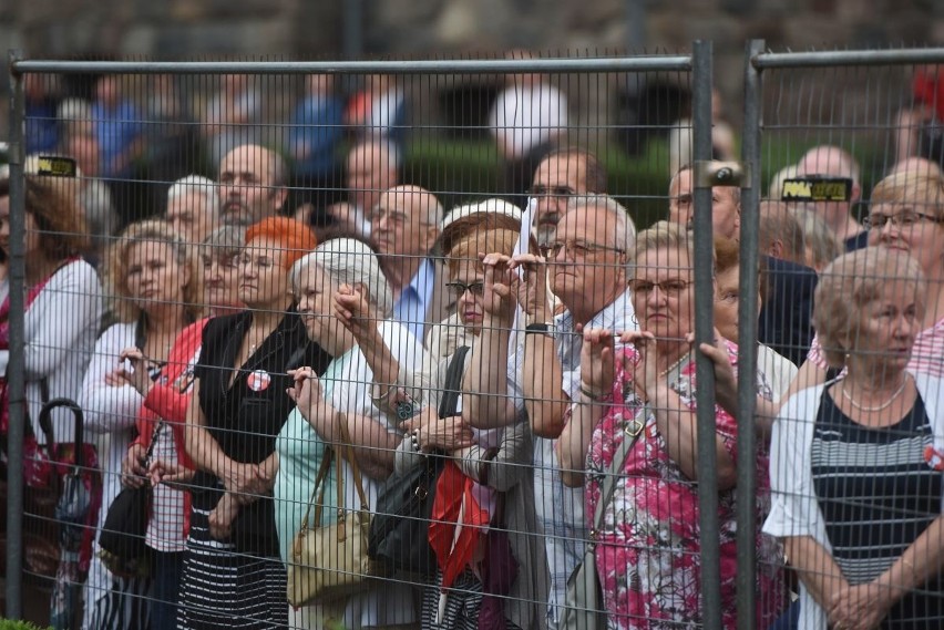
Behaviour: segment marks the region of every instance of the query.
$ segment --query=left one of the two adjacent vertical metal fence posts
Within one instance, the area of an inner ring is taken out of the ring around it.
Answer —
[[[698,163],[711,159],[711,42],[697,41],[692,48],[692,127],[695,143],[692,172],[695,198],[695,344],[715,338],[714,265],[711,228],[711,185],[699,183]],[[705,630],[721,629],[721,569],[718,539],[718,479],[715,476],[715,369],[696,352],[698,378],[698,503],[701,530],[701,618]]]

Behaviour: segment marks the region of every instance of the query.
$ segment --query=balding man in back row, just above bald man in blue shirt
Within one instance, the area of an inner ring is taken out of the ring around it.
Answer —
[[[358,227],[362,236],[370,234],[367,215],[380,200],[380,196],[399,184],[400,152],[388,141],[365,141],[356,144],[348,153],[347,187],[348,220]]]

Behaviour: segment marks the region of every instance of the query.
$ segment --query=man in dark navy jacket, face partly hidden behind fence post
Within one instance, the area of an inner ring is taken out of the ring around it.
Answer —
[[[691,167],[683,166],[669,184],[669,220],[691,226],[694,211]],[[715,236],[740,239],[741,194],[733,186],[711,188]],[[760,311],[757,339],[793,363],[802,363],[813,340],[812,311],[817,273],[789,260],[763,256],[768,295]]]

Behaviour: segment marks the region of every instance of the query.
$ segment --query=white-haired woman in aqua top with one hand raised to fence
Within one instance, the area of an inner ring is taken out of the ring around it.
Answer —
[[[400,365],[423,362],[425,352],[400,323],[389,319],[393,298],[380,264],[370,248],[350,238],[331,239],[291,268],[291,287],[308,339],[334,359],[318,376],[309,366],[294,372],[296,402],[276,441],[278,475],[275,484],[276,526],[281,559],[290,565],[291,545],[301,526],[327,448],[342,442],[339,421],[347,422],[355,456],[361,471],[368,500],[373,503],[378,481],[393,469],[392,452],[402,432],[371,401],[371,388],[388,382]],[[356,287],[356,289],[355,289]],[[359,293],[380,319],[372,320],[382,348],[361,348],[336,312],[336,296]],[[378,352],[379,350],[379,352]],[[419,392],[413,392],[419,400]],[[335,471],[325,482],[325,504],[348,508],[359,506],[350,465],[343,464],[345,497],[338,497]],[[322,513],[321,524],[336,518],[334,509]],[[286,607],[288,607],[286,605]],[[414,621],[412,596],[406,585],[376,582],[366,593],[322,606],[289,608],[293,628],[321,629],[331,623],[357,628],[391,628]]]

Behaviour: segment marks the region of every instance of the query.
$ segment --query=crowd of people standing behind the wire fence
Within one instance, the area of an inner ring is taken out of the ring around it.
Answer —
[[[373,90],[390,94],[380,80]],[[120,103],[107,81],[100,97]],[[217,100],[239,116],[232,124],[258,120],[245,81],[227,81]],[[363,100],[359,115],[402,124],[396,93]],[[524,207],[494,198],[448,213],[400,179],[400,141],[365,137],[348,152],[347,199],[326,203],[332,220],[312,225],[310,206],[287,204],[283,156],[217,127],[206,127],[215,177],[182,175],[161,216],[117,234],[76,179],[25,177],[29,430],[43,435],[51,397],[81,405],[103,471],[99,528],[121,488],[153,487],[148,560],[119,574],[93,554],[84,630],[478,629],[484,619],[556,630],[589,541],[608,628],[697,627],[706,536],[718,537],[721,621],[733,628],[741,502],[757,521],[757,628],[944,622],[944,175],[934,163],[899,165],[859,219],[854,158],[812,147],[777,180],[848,180],[851,194],[799,203],[772,185],[758,260],[739,257],[740,189],[712,188],[716,333],[695,347],[689,165],[673,175],[665,220],[637,230],[597,156],[554,146],[555,134],[526,148],[521,134],[507,138],[515,161],[540,149]],[[316,182],[309,136],[296,157]],[[83,168],[126,177],[147,147],[114,142],[104,171]],[[4,260],[9,221],[0,180]],[[740,290],[745,266],[758,269],[756,296]],[[740,317],[758,323],[755,496],[738,487],[738,353],[755,342]],[[717,381],[712,469],[699,462],[699,353]],[[69,441],[71,417],[54,420]],[[435,567],[293,607],[293,541],[322,464],[342,451],[321,526],[353,509],[358,489],[376,509],[391,475],[430,454],[448,462],[422,540]],[[707,476],[715,533],[700,529]],[[514,577],[496,586],[500,571]]]

